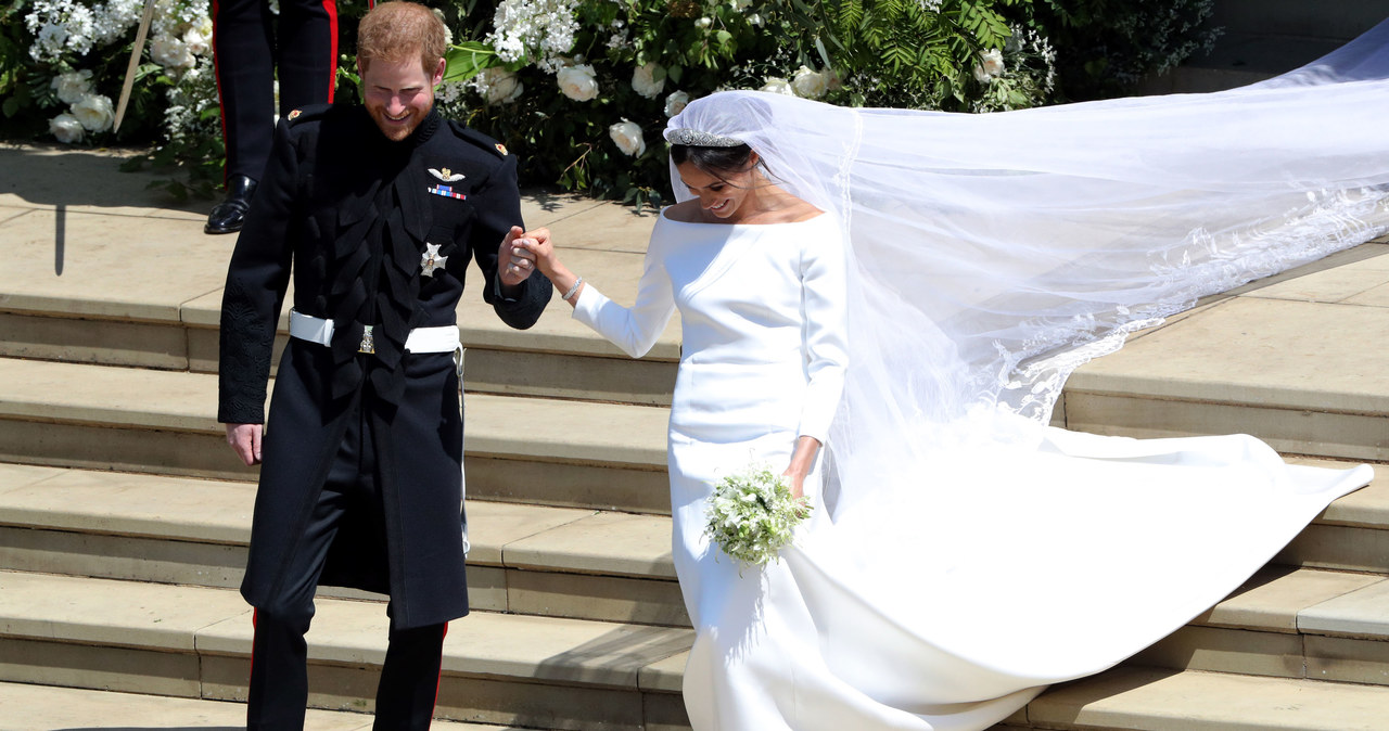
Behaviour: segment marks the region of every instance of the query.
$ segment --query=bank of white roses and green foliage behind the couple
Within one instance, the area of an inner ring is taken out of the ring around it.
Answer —
[[[1213,0],[433,0],[451,35],[440,110],[521,160],[524,184],[656,204],[665,121],[693,98],[760,89],[832,104],[999,111],[1120,92],[1208,44]],[[207,0],[156,0],[113,130],[142,0],[0,8],[0,135],[153,144],[210,193],[221,128]],[[272,11],[278,3],[271,0]],[[351,101],[361,0],[339,0],[338,98]],[[1101,43],[1101,40],[1104,40]],[[1083,49],[1082,53],[1068,50]],[[1103,82],[1103,83],[1101,83]]]

